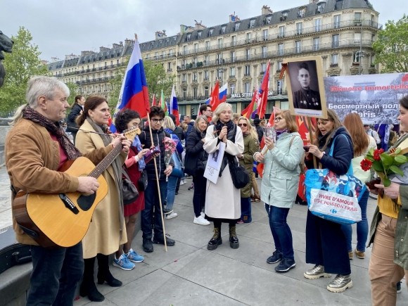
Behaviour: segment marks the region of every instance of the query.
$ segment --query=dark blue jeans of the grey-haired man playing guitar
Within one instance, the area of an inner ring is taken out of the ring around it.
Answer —
[[[82,242],[70,248],[31,247],[32,274],[27,305],[73,305],[84,272]]]

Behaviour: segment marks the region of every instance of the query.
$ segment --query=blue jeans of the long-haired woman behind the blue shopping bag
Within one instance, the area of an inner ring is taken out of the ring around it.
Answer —
[[[362,210],[362,220],[357,222],[357,250],[360,252],[366,251],[367,237],[369,236],[369,222],[367,221],[367,202],[369,200],[369,190],[364,191],[362,198],[359,200],[359,206]],[[347,241],[347,248],[349,252],[352,252],[351,246],[351,236],[352,227],[351,225],[342,226],[345,239]]]

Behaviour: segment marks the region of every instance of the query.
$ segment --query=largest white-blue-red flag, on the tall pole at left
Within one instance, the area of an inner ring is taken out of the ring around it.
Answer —
[[[150,112],[146,75],[137,38],[134,42],[132,56],[130,56],[129,63],[127,64],[125,77],[123,77],[119,101],[117,101],[113,117],[116,117],[116,114],[125,108],[136,110],[142,118],[147,117],[147,114]],[[115,127],[111,125],[110,129],[113,131]]]

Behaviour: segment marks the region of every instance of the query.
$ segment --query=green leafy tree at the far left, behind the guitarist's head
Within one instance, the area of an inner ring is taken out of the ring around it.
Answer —
[[[3,60],[6,79],[0,89],[0,111],[11,112],[26,103],[27,82],[34,75],[47,75],[48,69],[39,58],[41,52],[32,44],[32,35],[25,27],[20,27],[14,41],[13,52],[5,53]]]

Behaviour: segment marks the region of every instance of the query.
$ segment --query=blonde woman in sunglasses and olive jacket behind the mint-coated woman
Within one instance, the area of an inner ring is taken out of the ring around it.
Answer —
[[[239,163],[245,167],[249,176],[249,183],[241,188],[241,220],[238,223],[252,222],[250,194],[253,184],[253,155],[259,151],[260,144],[258,134],[246,117],[238,119],[238,127],[241,127],[243,135],[243,153],[237,155]]]

